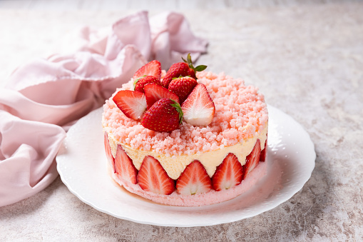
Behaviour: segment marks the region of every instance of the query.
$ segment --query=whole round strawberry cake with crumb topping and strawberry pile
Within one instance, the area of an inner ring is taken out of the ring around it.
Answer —
[[[267,105],[254,86],[187,60],[142,66],[103,106],[109,171],[131,193],[172,206],[239,196],[265,175]]]

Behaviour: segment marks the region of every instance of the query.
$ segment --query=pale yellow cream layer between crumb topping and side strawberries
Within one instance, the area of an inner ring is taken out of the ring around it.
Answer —
[[[236,143],[233,146],[228,146],[225,148],[220,148],[215,151],[208,151],[200,154],[192,154],[192,155],[181,155],[181,156],[165,156],[165,154],[155,153],[153,151],[141,151],[135,148],[131,148],[126,144],[120,143],[123,149],[126,151],[128,156],[133,160],[133,165],[139,170],[141,163],[143,162],[143,158],[145,156],[153,156],[157,159],[161,166],[168,173],[168,176],[173,179],[178,179],[180,174],[184,171],[185,167],[188,166],[192,161],[198,160],[203,164],[205,170],[207,171],[210,177],[213,176],[217,166],[222,163],[225,156],[228,153],[234,153],[237,156],[238,161],[242,164],[245,164],[246,156],[248,156],[253,146],[257,141],[257,138],[260,139],[261,150],[265,148],[265,142],[267,137],[267,125],[266,128],[257,136],[253,138],[248,138],[241,143]],[[113,157],[116,156],[116,149],[118,145],[118,141],[112,136],[112,133],[108,133],[108,139],[110,141],[111,151]]]

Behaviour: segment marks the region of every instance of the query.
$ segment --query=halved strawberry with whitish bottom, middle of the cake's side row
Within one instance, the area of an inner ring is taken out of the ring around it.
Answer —
[[[204,166],[197,160],[190,163],[176,181],[176,190],[183,195],[207,193],[212,181]]]

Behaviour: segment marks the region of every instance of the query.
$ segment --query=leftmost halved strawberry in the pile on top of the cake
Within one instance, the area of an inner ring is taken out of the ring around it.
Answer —
[[[140,91],[118,91],[118,93],[113,96],[113,101],[123,114],[134,120],[141,119],[147,106],[145,94]]]

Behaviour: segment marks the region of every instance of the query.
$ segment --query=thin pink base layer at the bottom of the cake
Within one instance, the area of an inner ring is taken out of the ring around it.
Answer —
[[[112,178],[116,183],[123,186],[127,191],[135,193],[138,196],[154,201],[155,203],[162,203],[171,206],[204,206],[223,201],[230,200],[239,196],[242,193],[255,187],[256,184],[262,181],[262,178],[267,174],[267,163],[260,162],[251,173],[247,175],[238,186],[224,191],[211,190],[208,193],[195,194],[195,195],[181,195],[174,191],[170,195],[155,194],[149,191],[143,191],[138,184],[129,183],[123,180],[117,173],[112,174]]]

